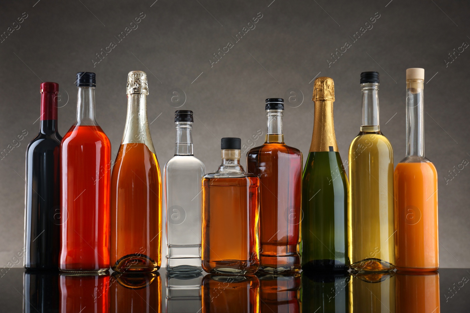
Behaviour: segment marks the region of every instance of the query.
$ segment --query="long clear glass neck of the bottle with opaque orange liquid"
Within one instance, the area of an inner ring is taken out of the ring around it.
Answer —
[[[407,80],[407,156],[424,158],[424,80]]]

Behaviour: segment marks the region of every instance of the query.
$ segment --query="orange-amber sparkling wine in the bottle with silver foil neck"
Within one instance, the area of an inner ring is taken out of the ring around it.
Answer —
[[[111,267],[151,272],[162,263],[162,182],[145,144],[119,147],[111,178]]]

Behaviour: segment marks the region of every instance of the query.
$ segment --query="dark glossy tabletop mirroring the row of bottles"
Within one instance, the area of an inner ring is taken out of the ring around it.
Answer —
[[[470,269],[386,275],[62,275],[4,268],[0,312],[470,312]]]

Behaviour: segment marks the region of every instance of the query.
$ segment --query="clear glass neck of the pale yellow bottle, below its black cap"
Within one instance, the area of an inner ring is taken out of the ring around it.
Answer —
[[[367,127],[370,131],[379,131],[379,84],[366,83],[360,85],[362,92],[362,125],[363,128]]]

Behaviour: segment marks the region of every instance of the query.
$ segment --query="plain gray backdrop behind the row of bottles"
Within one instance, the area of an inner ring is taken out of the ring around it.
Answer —
[[[335,129],[345,161],[361,123],[360,72],[370,70],[381,74],[381,129],[393,145],[396,164],[405,155],[405,70],[410,67],[426,70],[425,147],[439,173],[440,264],[470,267],[470,168],[465,166],[447,184],[444,178],[462,160],[470,160],[470,51],[455,54],[452,63],[448,55],[470,43],[468,1],[154,1],[0,4],[0,34],[23,12],[28,15],[0,43],[0,150],[28,132],[0,160],[0,267],[23,247],[24,153],[39,130],[42,81],[60,84],[59,131],[64,135],[75,120],[76,72],[96,73],[97,121],[110,137],[114,159],[124,130],[127,73],[147,72],[150,130],[160,166],[173,155],[174,110],[186,98],[181,109],[196,116],[195,154],[211,172],[220,161],[219,139],[241,137],[251,145],[258,130],[266,132],[265,98],[287,99],[290,89],[297,93],[286,106],[285,140],[305,160],[315,76],[335,80]],[[115,36],[141,12],[145,17],[138,28],[118,42]],[[262,18],[255,28],[235,43],[232,36],[258,12]],[[374,15],[380,17],[373,28],[353,42],[350,36]],[[94,66],[96,53],[111,41],[117,46]],[[235,46],[211,66],[213,53],[229,41]],[[329,64],[331,53],[346,41],[352,46]],[[171,102],[167,95],[176,88],[183,91],[180,102]]]

